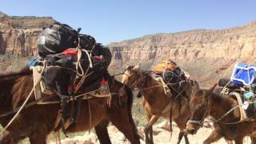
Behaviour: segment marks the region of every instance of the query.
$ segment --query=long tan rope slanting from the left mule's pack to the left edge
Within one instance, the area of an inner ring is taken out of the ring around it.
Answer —
[[[30,97],[33,95],[34,93],[34,88],[35,86],[38,85],[38,83],[41,81],[42,78],[42,73],[44,72],[44,70],[46,69],[46,61],[43,62],[43,69],[39,75],[39,78],[37,80],[37,82],[35,83],[35,85],[33,86],[32,90],[30,90],[30,94],[28,95],[28,97],[26,98],[25,102],[23,102],[22,106],[20,107],[20,109],[18,110],[18,112],[14,115],[13,118],[11,118],[10,122],[8,122],[8,124],[3,128],[1,135],[3,134],[3,132],[6,131],[6,129],[12,124],[12,122],[14,122],[15,118],[17,118],[18,114],[20,114],[20,112],[23,110],[24,106],[26,106],[26,102],[28,102],[28,100],[30,99]]]

